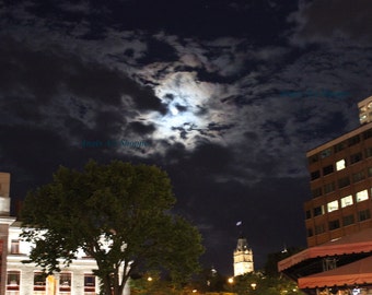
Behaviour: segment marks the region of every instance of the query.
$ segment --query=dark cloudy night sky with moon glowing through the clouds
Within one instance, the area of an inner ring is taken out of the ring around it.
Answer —
[[[202,259],[305,246],[306,151],[372,95],[369,0],[0,0],[11,197],[89,158],[165,169]],[[235,226],[242,221],[241,228]]]

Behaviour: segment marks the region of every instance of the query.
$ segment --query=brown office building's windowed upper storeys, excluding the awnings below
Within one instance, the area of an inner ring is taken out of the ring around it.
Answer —
[[[359,103],[359,109],[361,127],[306,154],[309,247],[372,227],[372,96]]]

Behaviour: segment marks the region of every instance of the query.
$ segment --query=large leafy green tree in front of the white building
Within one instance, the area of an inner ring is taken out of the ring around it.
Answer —
[[[123,294],[140,270],[188,280],[199,270],[201,236],[171,213],[174,203],[171,181],[155,166],[90,161],[82,172],[60,167],[50,184],[25,198],[22,237],[34,245],[28,262],[53,274],[82,249],[96,261],[106,295]]]

